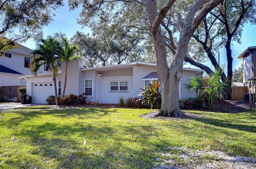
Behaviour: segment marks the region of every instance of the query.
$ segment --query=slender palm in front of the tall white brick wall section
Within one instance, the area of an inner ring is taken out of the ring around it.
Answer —
[[[75,51],[77,50],[77,47],[75,45],[70,46],[70,43],[68,42],[68,39],[66,37],[63,37],[62,40],[64,41],[64,47],[60,51],[59,55],[60,55],[60,60],[66,63],[65,81],[64,81],[64,87],[62,92],[62,97],[64,97],[66,82],[67,82],[68,63],[69,61],[77,58],[77,56],[74,55]]]

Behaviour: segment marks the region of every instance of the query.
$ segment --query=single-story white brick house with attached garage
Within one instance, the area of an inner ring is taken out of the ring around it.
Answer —
[[[62,64],[65,70],[65,64]],[[104,67],[83,69],[83,60],[74,59],[68,64],[68,75],[65,95],[82,94],[86,92],[90,101],[98,101],[102,104],[117,104],[118,98],[124,99],[138,95],[144,85],[158,79],[156,64],[134,62]],[[183,68],[179,85],[179,98],[195,97],[195,94],[187,92],[185,83],[190,77],[202,76],[202,69]],[[64,86],[65,74],[59,72],[57,78],[58,95],[61,95]],[[46,103],[50,95],[54,95],[52,74],[43,73],[37,77],[21,76],[27,79],[27,94],[32,96],[34,103]]]

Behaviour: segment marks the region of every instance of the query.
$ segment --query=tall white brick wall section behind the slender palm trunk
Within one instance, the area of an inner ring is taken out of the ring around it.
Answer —
[[[68,63],[68,73],[67,73],[67,83],[66,83],[66,91],[65,95],[69,93],[72,94],[80,94],[80,83],[82,81],[82,72],[80,71],[80,67],[83,68],[83,60],[74,59]],[[64,88],[64,81],[65,81],[65,70],[66,70],[66,63],[61,64],[61,90],[63,91]]]

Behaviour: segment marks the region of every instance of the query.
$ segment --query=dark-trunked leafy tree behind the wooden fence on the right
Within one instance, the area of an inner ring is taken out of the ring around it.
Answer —
[[[245,24],[256,23],[256,1],[255,0],[224,0],[221,6],[214,8],[210,14],[203,19],[193,34],[194,39],[198,42],[194,43],[193,48],[199,49],[194,52],[193,56],[187,55],[185,61],[204,69],[206,73],[212,73],[210,67],[202,64],[202,61],[196,61],[196,57],[208,57],[215,69],[220,68],[216,61],[217,51],[220,47],[226,48],[227,57],[227,75],[222,73],[222,80],[228,77],[229,90],[228,96],[231,96],[231,79],[232,72],[232,41],[241,43],[240,38]],[[218,42],[217,39],[221,39]],[[204,53],[202,53],[204,51]]]

